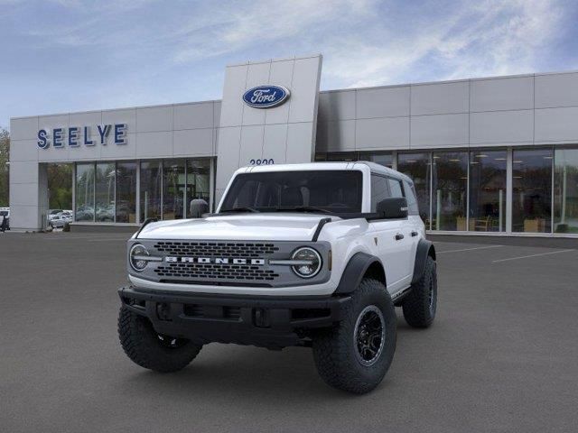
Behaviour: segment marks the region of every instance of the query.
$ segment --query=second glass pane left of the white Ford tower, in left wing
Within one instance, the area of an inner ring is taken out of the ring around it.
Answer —
[[[186,183],[184,160],[163,161],[163,219],[184,217]]]

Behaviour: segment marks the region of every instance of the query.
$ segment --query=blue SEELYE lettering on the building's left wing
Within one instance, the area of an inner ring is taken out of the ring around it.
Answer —
[[[94,127],[91,126],[70,126],[69,128],[53,128],[52,130],[41,129],[38,131],[38,147],[48,149],[51,145],[54,148],[61,148],[65,145],[69,147],[94,146],[97,142],[107,145],[107,137],[112,134],[115,144],[126,144],[126,124],[97,124],[97,135],[92,136]]]

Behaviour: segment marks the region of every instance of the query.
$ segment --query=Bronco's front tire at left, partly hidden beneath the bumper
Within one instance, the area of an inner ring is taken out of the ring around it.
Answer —
[[[118,338],[126,355],[141,367],[159,373],[178,372],[199,355],[202,345],[189,340],[168,340],[159,336],[148,318],[121,307],[118,314]],[[163,338],[163,339],[162,339]],[[174,341],[175,345],[170,343]]]

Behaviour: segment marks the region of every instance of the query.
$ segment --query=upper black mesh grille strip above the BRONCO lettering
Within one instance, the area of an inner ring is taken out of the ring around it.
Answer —
[[[192,257],[262,257],[279,251],[275,244],[238,242],[188,242],[160,241],[154,244],[157,251],[167,255],[187,255]]]

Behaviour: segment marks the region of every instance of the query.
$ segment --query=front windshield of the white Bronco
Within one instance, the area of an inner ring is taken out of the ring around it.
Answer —
[[[220,212],[361,212],[359,170],[272,171],[239,174]]]

